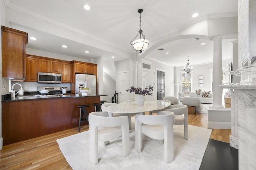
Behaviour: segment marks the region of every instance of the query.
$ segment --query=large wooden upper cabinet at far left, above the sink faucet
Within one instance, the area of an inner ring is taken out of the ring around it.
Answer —
[[[28,33],[16,29],[2,29],[2,77],[24,79],[24,64]]]

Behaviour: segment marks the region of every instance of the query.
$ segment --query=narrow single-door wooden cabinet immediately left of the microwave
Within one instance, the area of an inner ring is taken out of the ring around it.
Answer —
[[[38,59],[35,57],[26,56],[26,82],[37,82],[38,74]]]

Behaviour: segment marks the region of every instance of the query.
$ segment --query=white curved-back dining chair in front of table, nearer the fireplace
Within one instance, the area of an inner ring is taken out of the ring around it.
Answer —
[[[170,111],[158,111],[158,115],[136,115],[135,150],[137,152],[142,150],[143,133],[150,138],[164,140],[164,161],[172,162],[174,160],[173,122],[174,113]]]

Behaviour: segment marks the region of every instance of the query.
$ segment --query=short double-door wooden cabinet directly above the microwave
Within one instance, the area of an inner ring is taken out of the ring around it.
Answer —
[[[38,72],[61,73],[61,62],[47,59],[38,59]]]

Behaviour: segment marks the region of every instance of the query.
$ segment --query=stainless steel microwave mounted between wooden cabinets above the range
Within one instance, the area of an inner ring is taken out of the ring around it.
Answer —
[[[38,83],[61,83],[61,74],[38,72]]]

